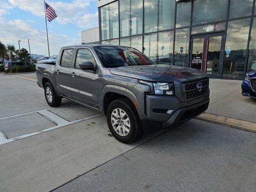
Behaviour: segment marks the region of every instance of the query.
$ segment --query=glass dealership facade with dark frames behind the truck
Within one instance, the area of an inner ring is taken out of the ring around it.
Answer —
[[[211,78],[256,70],[256,0],[116,0],[99,7],[102,44]]]

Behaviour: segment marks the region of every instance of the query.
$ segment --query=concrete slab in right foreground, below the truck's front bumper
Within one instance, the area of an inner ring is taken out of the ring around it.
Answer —
[[[256,191],[256,134],[191,120],[54,190]]]

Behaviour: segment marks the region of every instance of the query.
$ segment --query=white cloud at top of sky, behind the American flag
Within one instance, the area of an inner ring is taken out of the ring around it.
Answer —
[[[56,21],[60,24],[74,24],[88,29],[98,26],[98,12],[88,13],[88,7],[94,0],[73,0],[72,2],[47,3],[57,14]],[[18,7],[32,14],[44,17],[44,3],[42,0],[9,0],[10,6]],[[87,13],[86,13],[87,12]]]

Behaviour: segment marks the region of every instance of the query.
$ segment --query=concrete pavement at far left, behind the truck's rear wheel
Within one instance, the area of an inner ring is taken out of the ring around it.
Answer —
[[[49,108],[44,90],[36,82],[18,76],[0,76],[0,118]],[[70,100],[62,100],[62,105],[71,103]]]

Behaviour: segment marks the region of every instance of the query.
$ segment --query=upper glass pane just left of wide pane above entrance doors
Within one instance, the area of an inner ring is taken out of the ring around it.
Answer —
[[[191,1],[177,4],[176,28],[190,25]]]

